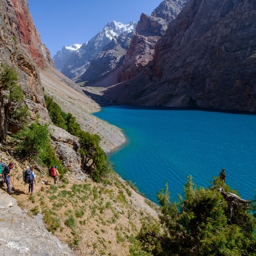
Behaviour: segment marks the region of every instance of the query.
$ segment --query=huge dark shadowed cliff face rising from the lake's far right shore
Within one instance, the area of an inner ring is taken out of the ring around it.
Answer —
[[[255,15],[252,1],[189,1],[140,79],[106,94],[126,104],[256,111]]]

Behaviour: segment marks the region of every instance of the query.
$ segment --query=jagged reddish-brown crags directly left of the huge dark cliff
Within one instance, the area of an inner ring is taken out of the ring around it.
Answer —
[[[136,33],[118,72],[119,83],[136,76],[152,61],[157,40],[164,35],[170,21],[177,17],[187,1],[164,0],[152,15],[141,14]]]

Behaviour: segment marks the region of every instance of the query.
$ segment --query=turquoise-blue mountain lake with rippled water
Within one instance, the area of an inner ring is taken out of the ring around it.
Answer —
[[[256,115],[125,106],[94,115],[124,131],[127,143],[109,161],[150,200],[157,202],[166,181],[176,200],[188,175],[196,186],[209,187],[222,168],[228,186],[254,198]]]

